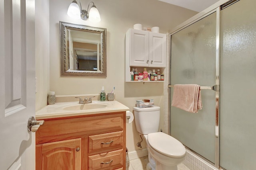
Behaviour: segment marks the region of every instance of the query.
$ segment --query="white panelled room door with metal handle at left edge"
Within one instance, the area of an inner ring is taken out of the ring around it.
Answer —
[[[35,169],[34,0],[0,0],[0,170]]]

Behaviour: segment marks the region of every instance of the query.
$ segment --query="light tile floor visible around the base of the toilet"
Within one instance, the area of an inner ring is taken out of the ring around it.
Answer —
[[[146,170],[148,156],[130,160],[129,170]],[[184,164],[178,165],[178,170],[189,170]]]

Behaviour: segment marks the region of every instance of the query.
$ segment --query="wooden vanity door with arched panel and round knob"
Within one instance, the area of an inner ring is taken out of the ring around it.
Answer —
[[[80,170],[81,138],[36,145],[36,170]]]

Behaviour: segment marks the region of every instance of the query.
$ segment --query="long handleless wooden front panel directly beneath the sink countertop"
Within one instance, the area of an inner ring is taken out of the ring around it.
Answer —
[[[124,114],[113,113],[88,117],[46,120],[36,131],[36,144],[52,142],[56,136],[69,134],[99,134],[110,131],[122,131]]]

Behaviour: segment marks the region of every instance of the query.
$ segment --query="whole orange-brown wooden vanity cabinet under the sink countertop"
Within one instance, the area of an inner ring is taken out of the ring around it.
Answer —
[[[36,170],[125,170],[126,111],[44,119]]]

